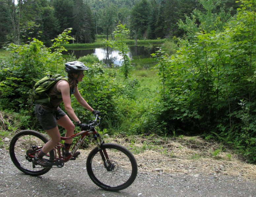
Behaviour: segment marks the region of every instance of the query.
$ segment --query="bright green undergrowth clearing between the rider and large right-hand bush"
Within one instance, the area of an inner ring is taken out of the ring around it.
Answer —
[[[153,113],[158,98],[160,83],[155,71],[133,70],[127,80],[116,77],[119,90],[114,99],[118,122],[109,124],[113,132],[132,135],[148,132],[145,124],[153,122]]]

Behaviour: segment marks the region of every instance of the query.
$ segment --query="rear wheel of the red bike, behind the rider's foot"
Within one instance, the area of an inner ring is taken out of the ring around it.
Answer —
[[[40,176],[47,173],[51,167],[42,167],[36,165],[33,168],[33,158],[28,156],[28,153],[35,152],[41,149],[42,146],[48,142],[48,139],[41,133],[33,130],[23,130],[18,132],[10,142],[10,157],[14,165],[23,173]],[[37,153],[35,153],[36,155]],[[49,160],[54,159],[54,151],[51,150],[45,158]]]

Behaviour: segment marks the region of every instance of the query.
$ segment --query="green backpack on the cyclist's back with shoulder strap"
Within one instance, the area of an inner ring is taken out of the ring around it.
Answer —
[[[50,99],[52,97],[50,97],[47,94],[47,91],[49,90],[50,87],[52,87],[55,83],[57,83],[61,79],[68,81],[68,77],[62,77],[60,74],[55,74],[55,75],[48,74],[46,77],[36,82],[33,89],[33,102],[35,104],[48,106],[50,104]],[[62,98],[61,94],[55,97]]]

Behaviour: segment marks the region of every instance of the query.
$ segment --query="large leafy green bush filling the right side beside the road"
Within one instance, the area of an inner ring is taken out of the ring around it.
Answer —
[[[194,32],[193,42],[180,40],[176,54],[160,49],[152,55],[162,83],[158,121],[170,132],[174,127],[234,144],[255,163],[256,4],[241,2],[223,31]]]

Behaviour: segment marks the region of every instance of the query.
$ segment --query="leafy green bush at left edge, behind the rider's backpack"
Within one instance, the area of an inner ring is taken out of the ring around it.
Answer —
[[[27,44],[9,45],[10,56],[0,59],[0,104],[3,109],[32,110],[31,93],[35,82],[49,73],[64,72],[61,52],[65,49],[61,43],[73,39],[67,36],[70,32],[64,30],[52,40],[50,48],[36,38]]]

